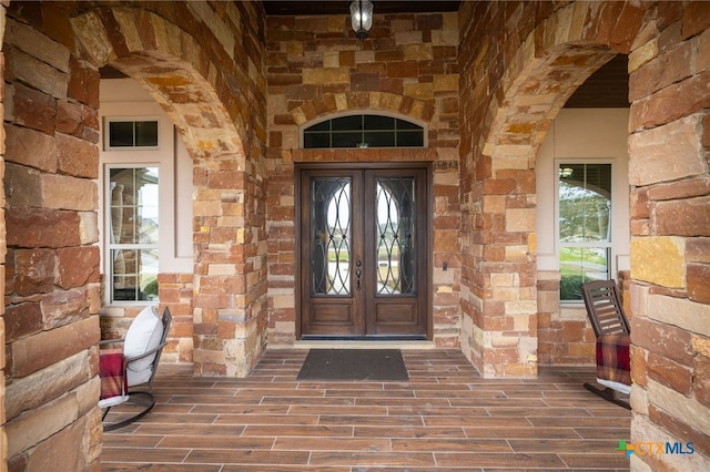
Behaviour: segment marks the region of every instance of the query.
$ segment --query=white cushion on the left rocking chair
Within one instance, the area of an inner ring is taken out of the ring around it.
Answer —
[[[163,336],[163,321],[154,306],[145,307],[133,320],[125,334],[123,355],[126,358],[141,356],[160,345]],[[128,363],[129,387],[146,382],[151,376],[151,366],[156,353]]]

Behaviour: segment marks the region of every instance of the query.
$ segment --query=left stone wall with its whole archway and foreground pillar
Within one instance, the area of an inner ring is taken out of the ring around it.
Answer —
[[[192,308],[197,373],[245,376],[266,337],[263,8],[11,2],[7,14],[2,450],[13,470],[99,470],[98,68],[142,83],[182,133],[195,271],[161,275],[161,296]]]

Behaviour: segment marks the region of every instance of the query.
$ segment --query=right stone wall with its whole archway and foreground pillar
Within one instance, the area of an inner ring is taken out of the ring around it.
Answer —
[[[633,454],[633,470],[710,468],[709,7],[465,2],[459,12],[462,347],[487,377],[535,374],[537,322],[555,310],[537,294],[555,277],[536,280],[529,224],[539,143],[577,84],[629,54],[631,441],[696,447]],[[501,278],[508,298],[496,295]]]

